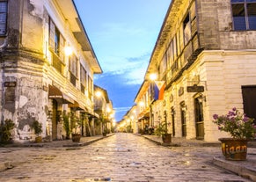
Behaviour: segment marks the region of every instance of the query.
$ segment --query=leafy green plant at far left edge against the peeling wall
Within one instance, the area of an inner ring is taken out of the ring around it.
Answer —
[[[0,124],[0,142],[10,143],[11,142],[11,130],[14,128],[15,124],[12,120],[4,120],[3,124]]]

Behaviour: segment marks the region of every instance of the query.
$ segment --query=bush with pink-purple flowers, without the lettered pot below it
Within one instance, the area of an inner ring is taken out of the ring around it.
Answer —
[[[253,119],[240,113],[234,107],[226,115],[213,115],[213,122],[216,123],[220,131],[228,132],[232,138],[236,139],[253,139],[256,135],[256,125]]]

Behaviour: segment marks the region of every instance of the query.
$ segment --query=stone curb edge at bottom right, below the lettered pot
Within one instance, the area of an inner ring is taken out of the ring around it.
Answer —
[[[214,157],[213,164],[219,166],[225,170],[232,171],[243,178],[249,178],[252,181],[256,181],[256,169],[243,166],[241,164],[234,164],[225,159]]]

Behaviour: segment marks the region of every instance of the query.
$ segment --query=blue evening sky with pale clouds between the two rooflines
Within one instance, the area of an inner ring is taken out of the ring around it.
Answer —
[[[119,121],[134,106],[171,0],[75,0]]]

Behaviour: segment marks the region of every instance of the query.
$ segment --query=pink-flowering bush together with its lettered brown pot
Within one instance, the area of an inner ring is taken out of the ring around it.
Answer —
[[[236,107],[225,115],[213,115],[213,122],[220,131],[229,133],[231,138],[220,138],[223,156],[227,160],[246,160],[247,142],[255,137],[256,125],[253,119],[240,113]]]

